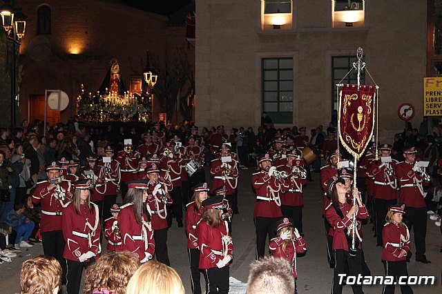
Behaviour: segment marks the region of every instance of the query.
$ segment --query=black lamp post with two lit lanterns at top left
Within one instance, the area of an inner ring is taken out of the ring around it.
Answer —
[[[12,42],[12,68],[11,68],[11,128],[16,123],[15,81],[16,81],[16,45],[20,46],[21,38],[25,35],[26,15],[21,8],[12,8],[8,3],[0,6],[1,26],[6,32],[7,40]]]

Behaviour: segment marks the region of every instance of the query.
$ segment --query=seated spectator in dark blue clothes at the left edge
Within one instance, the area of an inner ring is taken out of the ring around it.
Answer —
[[[32,247],[28,239],[32,230],[34,230],[35,224],[23,215],[24,211],[25,205],[23,203],[16,203],[14,204],[14,210],[10,210],[5,218],[6,224],[12,226],[12,230],[17,233],[15,237],[15,248]],[[23,236],[23,239],[20,242],[21,236]]]

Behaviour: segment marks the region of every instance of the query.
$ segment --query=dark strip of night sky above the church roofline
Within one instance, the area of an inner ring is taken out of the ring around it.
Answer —
[[[187,4],[191,3],[191,0],[118,0],[120,3],[124,3],[134,8],[154,12],[169,16],[180,10]]]

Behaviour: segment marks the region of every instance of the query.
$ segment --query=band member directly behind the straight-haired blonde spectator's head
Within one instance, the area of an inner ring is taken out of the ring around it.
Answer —
[[[153,237],[155,238],[155,255],[157,261],[171,266],[169,262],[169,253],[167,251],[167,209],[171,206],[172,198],[169,195],[167,186],[161,182],[160,170],[156,164],[146,168],[148,177],[147,189],[147,205],[151,212],[151,224],[153,229]]]

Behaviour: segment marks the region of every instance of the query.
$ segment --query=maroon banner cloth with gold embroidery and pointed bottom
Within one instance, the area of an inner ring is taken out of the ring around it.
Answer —
[[[375,86],[344,84],[340,90],[339,137],[347,151],[359,159],[374,129]]]

